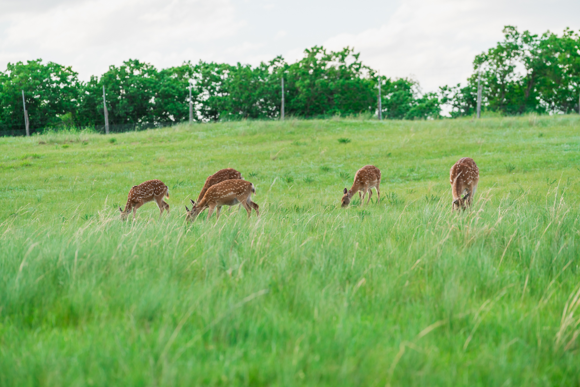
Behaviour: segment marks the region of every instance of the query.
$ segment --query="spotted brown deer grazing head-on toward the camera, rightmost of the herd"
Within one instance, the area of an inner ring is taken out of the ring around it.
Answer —
[[[479,182],[479,169],[473,158],[460,158],[449,171],[449,183],[453,195],[453,209],[467,208],[473,202],[477,183]],[[465,192],[465,196],[461,195]]]

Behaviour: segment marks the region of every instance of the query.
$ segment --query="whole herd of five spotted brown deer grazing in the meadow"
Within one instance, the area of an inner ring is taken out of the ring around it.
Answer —
[[[479,182],[479,169],[473,161],[473,158],[463,157],[457,161],[451,171],[449,171],[449,183],[451,183],[451,193],[453,196],[452,208],[465,209],[473,202],[477,183]],[[361,204],[364,204],[364,197],[367,195],[367,204],[371,200],[372,188],[376,190],[377,202],[380,200],[380,170],[374,165],[365,165],[357,171],[354,175],[353,186],[350,190],[343,191],[344,196],[341,200],[342,207],[349,205],[351,198],[358,192]],[[224,205],[233,206],[240,204],[248,211],[248,218],[252,214],[252,208],[256,211],[256,215],[260,216],[259,206],[252,201],[252,194],[256,193],[254,185],[242,178],[240,172],[233,168],[220,169],[220,171],[208,176],[205,179],[204,187],[201,189],[197,201],[191,201],[191,209],[186,208],[186,219],[188,222],[195,220],[204,209],[209,208],[208,219],[212,216],[213,211],[218,208],[216,212],[216,219],[219,219],[219,214]],[[362,193],[362,194],[361,194]],[[462,194],[465,195],[461,197]],[[167,204],[163,197],[169,197],[168,187],[161,182],[161,180],[148,180],[138,186],[133,186],[129,191],[127,204],[125,210],[119,207],[121,211],[121,219],[127,219],[129,212],[133,209],[133,219],[135,219],[135,211],[143,204],[155,201],[160,209],[159,216],[163,214],[166,209],[169,212],[169,204]]]

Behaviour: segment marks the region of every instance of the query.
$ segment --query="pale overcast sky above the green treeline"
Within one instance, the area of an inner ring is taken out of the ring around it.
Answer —
[[[84,80],[129,58],[293,62],[314,45],[350,45],[381,74],[433,91],[465,82],[506,24],[580,29],[578,0],[0,0],[0,10],[0,70],[42,58]]]

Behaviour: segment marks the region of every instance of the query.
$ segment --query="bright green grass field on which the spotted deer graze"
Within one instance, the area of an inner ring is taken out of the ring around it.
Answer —
[[[0,138],[0,385],[579,385],[579,151],[577,115]],[[187,225],[226,167],[260,219]],[[148,179],[171,214],[121,222]]]

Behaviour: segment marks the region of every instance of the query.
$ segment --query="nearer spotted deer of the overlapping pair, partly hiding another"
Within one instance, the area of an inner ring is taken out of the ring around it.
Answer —
[[[197,215],[200,215],[200,212],[204,211],[206,208],[209,208],[209,220],[209,217],[213,214],[213,210],[218,207],[218,212],[216,213],[216,220],[218,220],[219,213],[222,210],[223,205],[232,206],[236,204],[241,204],[244,206],[246,211],[248,211],[248,218],[252,214],[252,208],[255,209],[256,215],[260,216],[259,205],[255,202],[252,202],[252,193],[256,193],[256,189],[252,183],[247,182],[246,180],[225,180],[221,183],[209,187],[209,189],[205,191],[205,195],[200,200],[200,202],[196,203],[190,199],[191,204],[193,204],[193,208],[191,208],[190,211],[190,209],[187,208],[187,205],[185,206],[187,211],[186,219],[188,222],[191,222],[197,218]]]

